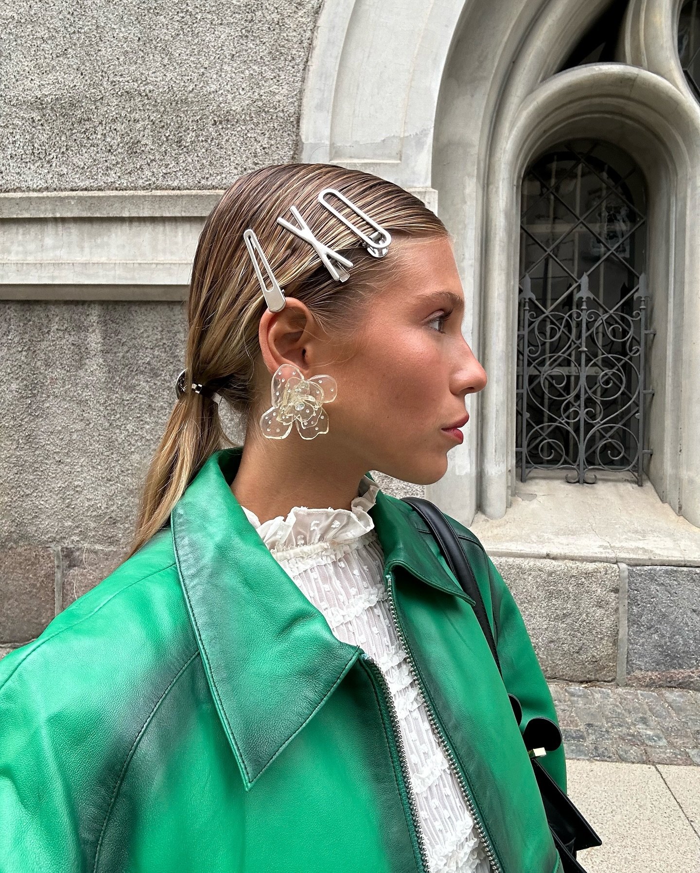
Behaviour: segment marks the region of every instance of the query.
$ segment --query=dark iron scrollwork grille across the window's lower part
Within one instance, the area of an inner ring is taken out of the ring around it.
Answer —
[[[633,471],[642,485],[648,304],[644,274],[613,309],[573,287],[568,311],[539,304],[525,274],[518,305],[518,445],[521,479],[568,469],[592,484],[594,470]],[[630,306],[631,304],[631,306]],[[625,311],[631,310],[631,311]]]

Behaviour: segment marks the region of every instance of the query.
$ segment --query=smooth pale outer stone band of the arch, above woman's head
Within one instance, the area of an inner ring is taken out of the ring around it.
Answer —
[[[299,160],[381,175],[430,204],[437,95],[469,0],[326,0],[306,72]]]

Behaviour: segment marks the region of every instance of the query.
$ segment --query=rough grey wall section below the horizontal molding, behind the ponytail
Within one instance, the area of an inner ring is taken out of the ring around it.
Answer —
[[[182,304],[3,304],[0,644],[119,563],[184,336]]]

